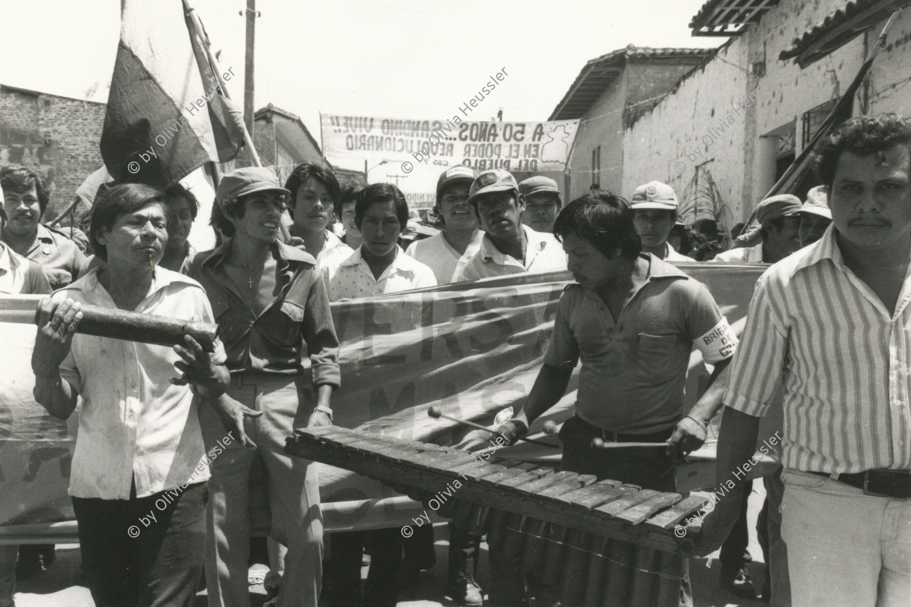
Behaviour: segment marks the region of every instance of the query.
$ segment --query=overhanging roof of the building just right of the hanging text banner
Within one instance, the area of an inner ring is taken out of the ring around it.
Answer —
[[[585,115],[630,61],[679,61],[694,66],[714,52],[713,48],[648,48],[628,45],[607,55],[591,59],[569,86],[566,95],[548,120],[575,120]]]

